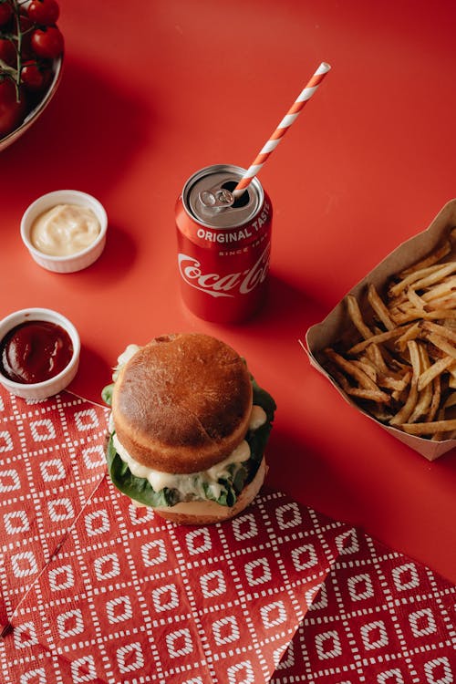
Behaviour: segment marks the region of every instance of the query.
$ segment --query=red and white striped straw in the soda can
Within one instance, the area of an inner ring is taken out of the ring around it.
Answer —
[[[316,69],[316,72],[306,85],[306,88],[302,91],[298,98],[295,99],[293,106],[288,109],[284,119],[279,123],[275,129],[272,136],[264,145],[263,149],[260,150],[258,156],[254,160],[253,164],[245,172],[243,178],[238,182],[233,190],[233,196],[239,197],[245,188],[250,185],[250,182],[257,175],[258,171],[262,168],[264,161],[266,161],[272,151],[275,150],[280,140],[285,136],[286,131],[290,128],[292,123],[301,113],[301,109],[304,108],[306,102],[314,95],[316,88],[320,85],[322,80],[326,77],[327,72],[331,67],[326,62],[322,62],[320,66]]]

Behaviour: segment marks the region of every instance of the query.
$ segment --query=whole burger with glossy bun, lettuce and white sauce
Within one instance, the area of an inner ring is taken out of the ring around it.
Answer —
[[[156,337],[119,356],[107,462],[133,503],[181,524],[217,523],[253,501],[266,473],[275,401],[215,337]]]

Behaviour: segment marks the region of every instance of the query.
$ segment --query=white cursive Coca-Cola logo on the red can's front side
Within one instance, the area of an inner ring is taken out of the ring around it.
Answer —
[[[269,270],[270,252],[271,245],[268,244],[252,268],[225,275],[204,273],[202,264],[198,259],[187,254],[178,254],[179,273],[187,285],[213,297],[248,295],[255,287],[264,282]]]

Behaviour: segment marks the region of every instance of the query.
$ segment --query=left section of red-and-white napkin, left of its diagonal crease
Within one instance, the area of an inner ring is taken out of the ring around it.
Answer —
[[[108,412],[69,393],[0,391],[0,625],[57,553],[105,477]]]

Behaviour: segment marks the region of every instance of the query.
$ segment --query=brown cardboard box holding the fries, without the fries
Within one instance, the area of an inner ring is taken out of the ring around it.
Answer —
[[[426,254],[429,254],[442,239],[447,236],[451,228],[456,226],[456,199],[447,202],[441,211],[437,214],[435,219],[430,223],[422,233],[410,238],[405,243],[402,243],[393,252],[391,252],[373,271],[371,271],[365,278],[363,278],[358,285],[355,285],[348,294],[355,295],[358,299],[361,311],[364,312],[365,290],[368,283],[372,283],[381,293],[384,285],[389,281],[392,275],[399,273],[401,270],[407,268],[409,265],[420,261]],[[455,254],[447,255],[443,261],[454,260]],[[409,435],[406,432],[397,428],[384,425],[379,420],[376,420],[363,409],[360,409],[347,394],[338,386],[337,381],[332,378],[323,368],[319,361],[320,352],[326,347],[334,345],[337,339],[343,337],[344,332],[347,332],[347,327],[352,326],[347,317],[347,309],[345,297],[337,306],[326,316],[326,318],[315,326],[311,326],[306,332],[306,352],[308,354],[310,363],[320,373],[322,373],[334,385],[339,394],[347,400],[349,404],[354,406],[357,410],[364,413],[370,420],[374,420],[378,425],[387,430],[391,435],[398,440],[408,444],[409,447],[424,456],[428,461],[434,461],[443,453],[450,451],[456,447],[456,440],[430,441],[424,437],[417,437]]]

